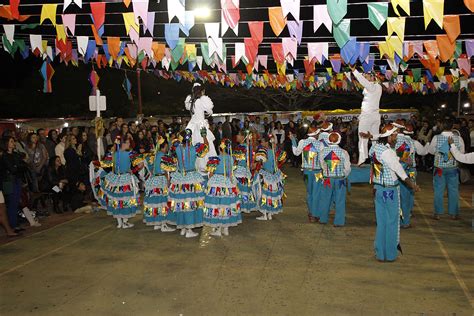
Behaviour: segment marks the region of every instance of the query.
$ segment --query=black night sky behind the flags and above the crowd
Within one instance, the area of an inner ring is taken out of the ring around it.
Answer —
[[[5,2],[5,1],[2,1]],[[30,0],[28,3],[44,3],[45,1]],[[62,3],[62,1],[48,1]],[[107,4],[107,12],[123,12],[125,7],[120,3]],[[353,1],[349,0],[349,3],[366,2],[366,1]],[[374,1],[376,2],[376,1]],[[384,1],[385,2],[385,1]],[[23,0],[21,3],[27,3]],[[192,9],[197,6],[197,3],[207,6],[210,8],[219,8],[219,1],[186,1],[186,9]],[[312,5],[312,4],[324,4],[325,0],[301,0],[301,5]],[[240,7],[270,7],[278,6],[278,0],[241,0]],[[130,8],[131,9],[131,8]],[[62,8],[58,8],[58,12]],[[161,1],[160,4],[156,4],[156,1],[150,1],[150,11],[165,11],[166,1]],[[70,13],[87,13],[89,12],[89,6],[84,1],[83,10],[76,10],[74,8],[68,9]],[[412,1],[411,4],[411,15],[422,16],[422,2]],[[39,14],[39,6],[21,7],[21,14]],[[462,0],[449,0],[445,1],[445,14],[459,14],[469,13],[464,7]],[[390,6],[389,16],[395,16]],[[461,17],[461,30],[463,38],[474,38],[474,15],[462,16]],[[302,8],[300,18],[302,20],[311,20],[313,17],[312,8]],[[367,6],[361,5],[349,5],[347,18],[367,17]],[[267,20],[268,14],[265,9],[259,10],[241,10],[241,21],[253,21],[253,20]],[[214,11],[208,22],[220,21],[220,14],[218,11]],[[28,23],[38,23],[39,16],[33,16]],[[60,16],[58,15],[58,22],[60,22]],[[159,23],[167,22],[167,15],[165,12],[157,13],[155,23],[154,39],[160,42],[164,42],[163,28],[164,26]],[[6,23],[0,19],[0,23]],[[88,15],[78,16],[76,20],[77,24],[89,24],[90,18]],[[107,24],[122,24],[120,26],[113,26]],[[107,15],[106,16],[106,36],[125,36],[123,20],[121,15]],[[148,35],[143,33],[141,30],[141,36]],[[43,25],[35,28],[34,30],[20,30],[16,28],[15,38],[28,38],[27,34],[54,34],[51,25]],[[430,24],[428,29],[424,30],[423,18],[410,18],[407,19],[407,25],[405,30],[405,41],[414,39],[432,39],[433,36],[427,36],[426,38],[414,37],[416,34],[443,34],[444,31],[439,29],[434,22]],[[186,39],[186,43],[199,43],[205,41],[204,38],[204,25],[196,24],[191,30],[190,37]],[[88,25],[77,25],[76,35],[91,35],[90,27]],[[227,32],[224,37],[224,42],[234,43],[236,41],[242,42],[244,37],[249,37],[248,28],[246,25],[240,26],[239,36],[236,36],[231,32]],[[359,41],[374,40],[374,38],[368,38],[367,36],[379,36],[376,40],[381,40],[382,36],[386,35],[386,26],[383,26],[380,31],[377,31],[371,26],[368,20],[354,20],[351,22],[351,35],[356,36]],[[412,36],[410,36],[412,35]],[[149,35],[148,35],[149,36]],[[181,34],[181,36],[184,36]],[[280,37],[289,36],[288,31],[285,29]],[[365,37],[364,37],[365,36]],[[280,38],[274,36],[270,26],[265,24],[264,28],[264,42],[261,44],[259,54],[268,54],[271,56],[270,43],[280,41]],[[304,40],[303,42],[312,41],[334,41],[331,34],[324,28],[320,28],[316,33],[313,33],[312,22],[304,22]],[[124,37],[125,39],[125,37]],[[29,41],[27,41],[29,42]],[[50,38],[50,45],[52,38]],[[298,58],[302,59],[306,55],[306,45],[303,43],[298,49]],[[330,53],[336,53],[339,49],[330,47]],[[376,48],[371,49],[371,53],[377,53]],[[200,50],[198,49],[200,55]],[[227,55],[233,55],[233,45],[228,45]],[[271,58],[270,58],[271,60]],[[377,61],[377,63],[385,61]],[[19,55],[12,58],[8,53],[0,53],[0,117],[67,117],[67,116],[84,116],[91,115],[88,112],[88,95],[90,93],[91,86],[88,82],[88,76],[91,71],[91,65],[84,65],[80,62],[79,67],[72,65],[66,66],[59,64],[58,60],[53,62],[53,67],[56,71],[53,80],[53,93],[44,94],[42,92],[43,80],[39,73],[39,68],[42,61],[35,58],[29,57],[23,60]],[[231,69],[230,60],[228,60],[228,69]],[[419,67],[420,63],[417,60],[410,62],[410,67]],[[187,66],[185,66],[187,68]],[[324,66],[319,66],[317,70],[322,70],[325,67],[330,67],[330,63]],[[303,70],[301,62],[295,63],[295,68]],[[243,68],[239,68],[243,69]],[[269,61],[269,69],[274,70],[273,61]],[[99,69],[97,70],[100,76],[99,88],[102,93],[107,96],[107,103],[109,111],[106,115],[123,115],[131,116],[136,113],[137,106],[132,104],[126,97],[125,92],[122,89],[122,81],[124,79],[124,71],[117,69]],[[291,70],[288,70],[290,72]],[[132,93],[136,95],[136,74],[133,71],[127,73],[129,79],[132,81]],[[189,92],[191,84],[187,82],[175,82],[173,80],[158,79],[151,73],[142,72],[142,93],[145,114],[179,114],[183,113],[183,100],[186,94]],[[222,98],[222,95],[226,93],[227,88],[222,87],[208,87],[208,94],[214,99],[216,103],[216,111],[227,112],[227,111],[254,111],[261,110],[259,105],[255,102],[248,100],[242,100],[238,98],[236,94],[234,100],[228,98]],[[158,94],[158,92],[160,92]],[[245,90],[242,89],[242,93]],[[463,94],[463,100],[466,98]],[[360,96],[354,97],[348,95],[341,97],[337,95],[337,104],[331,103],[331,100],[323,104],[323,108],[357,108],[360,105]],[[457,102],[457,94],[436,94],[428,96],[420,95],[385,95],[382,103],[387,104],[391,107],[417,107],[433,106],[437,107],[440,103],[448,102],[451,105],[455,105]],[[311,109],[311,101],[304,105],[305,109]]]

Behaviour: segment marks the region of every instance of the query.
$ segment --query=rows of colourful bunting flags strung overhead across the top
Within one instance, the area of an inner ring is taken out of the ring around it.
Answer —
[[[464,0],[466,7],[471,12],[474,8],[473,2],[473,0]],[[30,52],[37,57],[42,57],[46,63],[43,64],[42,73],[48,73],[43,68],[52,69],[51,62],[59,56],[60,62],[71,63],[75,66],[79,61],[95,62],[98,68],[107,65],[121,68],[123,64],[128,67],[139,65],[144,69],[161,66],[165,70],[163,73],[170,71],[179,73],[178,67],[186,63],[188,73],[200,73],[205,71],[203,66],[207,65],[226,76],[233,77],[236,74],[228,74],[229,69],[227,69],[227,59],[230,59],[232,68],[242,62],[246,66],[247,76],[252,77],[256,75],[254,72],[266,70],[268,60],[273,59],[277,73],[272,76],[286,78],[287,66],[294,65],[294,61],[298,58],[297,52],[301,51],[302,45],[303,49],[306,46],[305,52],[307,52],[303,60],[304,78],[310,78],[314,74],[316,63],[326,66],[326,61],[329,61],[331,65],[326,69],[326,76],[333,77],[333,73],[342,75],[343,64],[354,65],[357,62],[361,63],[365,72],[374,71],[375,55],[370,53],[370,47],[374,43],[359,42],[357,38],[350,36],[351,19],[346,18],[347,0],[328,0],[325,5],[312,6],[313,31],[316,32],[324,25],[333,34],[335,43],[340,48],[339,54],[332,55],[328,53],[328,42],[302,43],[303,21],[300,20],[300,0],[280,0],[279,7],[268,8],[268,21],[274,34],[279,36],[285,27],[290,34],[290,37],[281,38],[281,42],[271,43],[271,56],[258,54],[259,45],[263,42],[264,21],[247,22],[251,37],[244,38],[243,42],[232,44],[223,42],[223,36],[229,29],[238,35],[239,27],[244,25],[243,22],[240,22],[239,0],[220,0],[221,22],[204,24],[207,41],[200,44],[186,43],[186,38],[180,37],[180,32],[188,37],[195,24],[194,12],[186,11],[185,0],[167,0],[169,23],[164,25],[166,43],[153,40],[155,12],[148,12],[148,0],[124,0],[123,3],[127,8],[131,5],[133,10],[122,13],[124,28],[130,40],[123,40],[122,37],[117,36],[104,37],[108,4],[106,2],[88,4],[91,12],[90,28],[93,39],[90,36],[76,35],[76,14],[64,12],[73,5],[83,8],[83,4],[81,0],[65,0],[62,13],[58,13],[58,4],[43,4],[41,8],[40,25],[50,23],[56,30],[53,45],[48,41],[47,36],[38,34],[29,35],[29,45],[25,38],[19,38],[19,36],[15,38],[16,27],[25,30],[33,29],[37,25],[4,24],[3,48],[12,55],[19,52],[24,58],[28,57]],[[457,74],[458,78],[471,76],[474,41],[457,40],[461,34],[460,19],[457,15],[444,15],[444,0],[423,0],[425,28],[434,20],[446,32],[444,35],[436,35],[435,40],[425,41],[405,41],[404,39],[407,17],[401,16],[401,11],[410,15],[409,0],[391,0],[391,5],[397,14],[396,17],[388,17],[388,5],[388,2],[367,4],[368,17],[373,26],[380,29],[383,24],[387,24],[385,40],[375,43],[380,52],[380,58],[385,58],[387,61],[386,66],[379,65],[382,77],[392,80],[401,76],[403,80],[411,81],[410,74],[404,76],[399,75],[399,72],[407,70],[408,61],[412,58],[417,58],[428,70],[430,74],[430,76],[426,76],[428,81],[435,76],[438,79],[443,77],[444,73],[437,76],[441,71],[447,70],[441,66],[441,62],[449,62],[449,71]],[[28,20],[29,16],[20,14],[19,7],[20,0],[10,0],[9,5],[0,7],[0,17],[19,22]],[[61,24],[57,23],[58,14],[61,15]],[[288,19],[290,15],[294,20]],[[175,18],[178,23],[172,22]],[[149,35],[140,37],[140,25]],[[227,55],[229,47],[234,49],[234,55]],[[198,48],[201,56],[197,53]],[[390,69],[387,69],[387,66]],[[199,68],[197,72],[194,71],[196,67]],[[421,70],[424,69],[420,68]],[[51,72],[54,73],[54,71],[49,71],[49,73]],[[294,70],[294,72],[298,71]],[[185,72],[181,71],[181,73]],[[418,68],[412,69],[412,73],[417,74]],[[300,74],[298,73],[298,75]],[[262,75],[257,75],[257,77],[262,77]],[[411,77],[414,79],[418,76]],[[282,82],[282,80],[277,81]],[[455,81],[452,80],[452,83]],[[419,83],[420,81],[415,82]],[[443,82],[439,82],[438,89],[443,87]],[[288,83],[289,81],[284,84],[285,87]],[[447,84],[449,86],[449,82]],[[263,85],[273,86],[272,84]],[[295,87],[297,86],[295,85]],[[305,82],[302,86],[311,88],[313,84]]]

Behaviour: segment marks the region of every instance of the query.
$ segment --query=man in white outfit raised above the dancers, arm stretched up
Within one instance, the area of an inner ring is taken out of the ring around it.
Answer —
[[[376,81],[371,82],[367,80],[357,69],[354,69],[352,73],[364,87],[362,92],[364,99],[362,100],[359,115],[359,133],[370,132],[372,135],[377,135],[380,128],[379,105],[380,98],[382,97],[382,86]],[[367,158],[369,158],[369,140],[359,137],[358,164],[363,164]]]

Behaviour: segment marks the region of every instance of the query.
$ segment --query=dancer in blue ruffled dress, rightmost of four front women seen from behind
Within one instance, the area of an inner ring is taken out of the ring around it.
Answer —
[[[209,158],[209,181],[204,199],[204,225],[212,227],[211,235],[229,236],[229,227],[242,223],[240,196],[234,175],[232,143],[221,141],[219,156]]]

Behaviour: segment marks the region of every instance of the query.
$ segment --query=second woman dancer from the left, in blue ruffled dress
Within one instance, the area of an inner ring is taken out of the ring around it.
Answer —
[[[168,142],[158,138],[154,155],[146,158],[150,176],[145,181],[145,197],[143,199],[143,221],[154,226],[155,230],[173,232],[176,225],[176,214],[170,212],[168,203],[169,172],[176,170],[173,158],[167,155]]]

